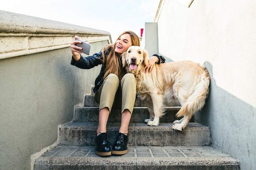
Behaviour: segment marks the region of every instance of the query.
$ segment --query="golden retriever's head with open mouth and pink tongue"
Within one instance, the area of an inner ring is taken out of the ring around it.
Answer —
[[[122,54],[122,61],[129,73],[139,72],[148,66],[148,53],[140,46],[131,46]]]

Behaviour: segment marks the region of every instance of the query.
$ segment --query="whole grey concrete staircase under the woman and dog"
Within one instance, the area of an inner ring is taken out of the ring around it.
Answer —
[[[211,147],[210,127],[189,122],[183,131],[172,130],[178,103],[165,107],[159,126],[147,126],[146,104],[136,99],[128,128],[129,150],[122,156],[100,157],[93,148],[98,125],[98,104],[85,96],[77,107],[74,122],[59,129],[60,144],[36,160],[35,169],[181,169],[238,170],[239,161]],[[121,110],[112,109],[108,119],[109,141],[114,143],[121,122]]]

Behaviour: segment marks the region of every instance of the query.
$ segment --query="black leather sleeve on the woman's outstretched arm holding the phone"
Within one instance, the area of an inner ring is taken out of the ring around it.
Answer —
[[[71,65],[74,65],[80,69],[91,69],[99,64],[102,64],[102,51],[95,53],[91,56],[83,57],[80,54],[80,60],[76,61],[72,55]]]

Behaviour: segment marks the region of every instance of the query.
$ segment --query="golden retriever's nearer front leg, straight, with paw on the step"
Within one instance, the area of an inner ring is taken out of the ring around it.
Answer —
[[[161,94],[151,93],[150,95],[153,103],[154,119],[148,121],[149,126],[158,126],[159,118],[163,115],[163,96]]]

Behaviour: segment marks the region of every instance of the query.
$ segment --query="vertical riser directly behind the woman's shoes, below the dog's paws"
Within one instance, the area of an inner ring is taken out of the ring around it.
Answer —
[[[115,141],[119,128],[108,129],[108,140],[111,145]],[[96,128],[61,128],[60,144],[63,145],[85,145],[95,144]],[[189,146],[189,145],[210,145],[210,129],[208,127],[174,131],[171,128],[165,130],[142,130],[137,127],[129,127],[130,146]]]

